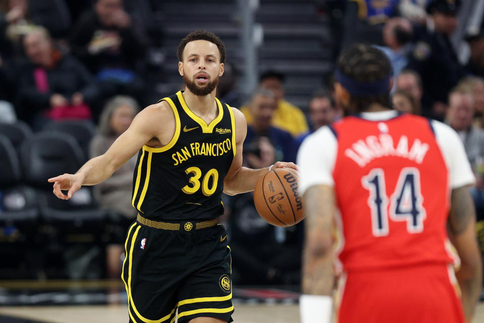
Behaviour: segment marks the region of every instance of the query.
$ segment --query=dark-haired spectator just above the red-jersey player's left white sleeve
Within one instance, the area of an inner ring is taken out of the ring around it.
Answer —
[[[340,117],[341,113],[336,108],[336,103],[331,93],[325,89],[316,90],[309,102],[311,132],[314,132],[323,126],[332,124]],[[299,147],[308,135],[309,133],[295,138],[296,146]]]

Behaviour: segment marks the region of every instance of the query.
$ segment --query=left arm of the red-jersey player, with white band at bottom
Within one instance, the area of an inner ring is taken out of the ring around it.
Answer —
[[[301,322],[330,322],[334,288],[334,189],[328,185],[311,186],[304,193],[303,200],[306,208],[306,239],[302,258],[303,295],[299,302]]]

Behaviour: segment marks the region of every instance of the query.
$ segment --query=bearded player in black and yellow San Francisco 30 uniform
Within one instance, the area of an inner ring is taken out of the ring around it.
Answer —
[[[241,167],[245,117],[215,97],[224,44],[196,31],[177,53],[186,90],[146,107],[106,153],[76,174],[49,182],[58,198],[69,199],[139,151],[132,197],[138,217],[128,231],[122,274],[130,322],[173,323],[175,312],[182,323],[230,322],[230,248],[216,221],[222,191],[252,191],[269,169]],[[297,169],[281,162],[273,167]]]

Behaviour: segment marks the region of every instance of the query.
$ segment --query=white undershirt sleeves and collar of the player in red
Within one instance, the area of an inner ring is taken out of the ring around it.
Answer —
[[[394,118],[395,111],[367,112],[361,117],[373,121]],[[451,188],[475,183],[474,174],[465,154],[464,145],[459,135],[449,126],[432,120],[437,144],[444,156],[448,169]],[[309,135],[301,144],[297,153],[297,165],[300,169],[299,194],[313,185],[334,186],[333,170],[338,151],[338,141],[327,126]]]

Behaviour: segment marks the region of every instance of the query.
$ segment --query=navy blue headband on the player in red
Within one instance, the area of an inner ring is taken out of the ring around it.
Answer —
[[[353,96],[365,97],[372,95],[379,95],[390,92],[390,79],[392,75],[390,74],[384,79],[375,82],[360,82],[356,81],[336,69],[335,71],[336,81],[340,83],[349,94]]]

